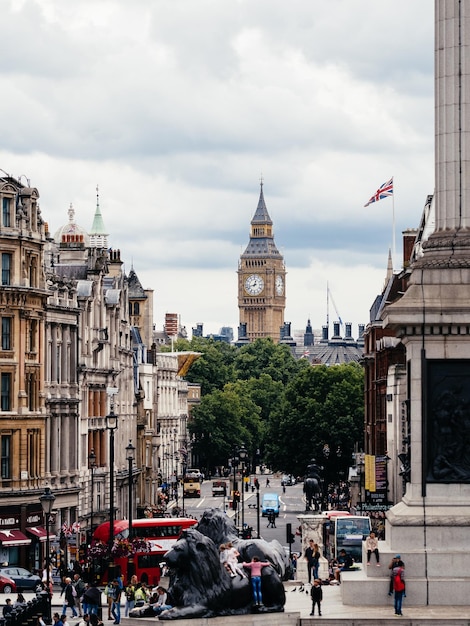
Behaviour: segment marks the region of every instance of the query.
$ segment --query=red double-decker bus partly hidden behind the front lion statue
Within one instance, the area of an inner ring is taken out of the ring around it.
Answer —
[[[179,539],[183,530],[197,524],[197,520],[187,517],[150,517],[132,521],[133,538],[144,539],[150,546],[150,551],[136,552],[133,555],[134,574],[140,582],[151,586],[158,585],[161,575],[163,555]],[[129,522],[116,520],[113,523],[114,538],[127,539],[129,537]],[[93,533],[92,547],[109,543],[109,522],[100,524]],[[128,580],[128,556],[115,557],[115,573],[121,573],[124,583]],[[97,559],[93,561],[93,570],[96,579],[107,582],[108,561]]]

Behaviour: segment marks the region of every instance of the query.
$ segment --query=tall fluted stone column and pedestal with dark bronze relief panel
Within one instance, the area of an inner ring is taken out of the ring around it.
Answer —
[[[435,231],[404,295],[383,314],[406,347],[411,461],[406,493],[387,513],[384,561],[401,554],[408,602],[462,605],[461,585],[470,584],[462,450],[470,435],[470,2],[436,0],[435,27]]]

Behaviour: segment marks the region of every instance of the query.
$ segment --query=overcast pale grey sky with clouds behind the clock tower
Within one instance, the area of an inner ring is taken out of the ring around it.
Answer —
[[[3,0],[0,168],[100,206],[162,328],[238,326],[263,177],[286,321],[367,323],[434,190],[430,0]],[[394,177],[395,198],[364,207]],[[24,179],[23,179],[24,182]],[[394,210],[393,210],[394,207]],[[336,308],[336,310],[335,310]]]

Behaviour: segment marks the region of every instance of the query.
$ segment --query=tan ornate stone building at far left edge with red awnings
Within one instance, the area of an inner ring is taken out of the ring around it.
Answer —
[[[0,561],[34,566],[42,537],[39,495],[47,470],[46,225],[38,190],[0,178]],[[40,527],[34,534],[32,528]],[[32,543],[32,545],[30,545]]]

